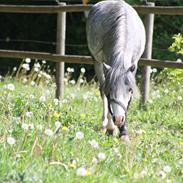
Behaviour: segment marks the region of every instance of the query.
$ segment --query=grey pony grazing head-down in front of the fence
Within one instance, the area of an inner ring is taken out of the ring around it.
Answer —
[[[103,128],[128,140],[127,111],[145,47],[143,23],[123,0],[106,0],[92,6],[86,31],[103,99]]]

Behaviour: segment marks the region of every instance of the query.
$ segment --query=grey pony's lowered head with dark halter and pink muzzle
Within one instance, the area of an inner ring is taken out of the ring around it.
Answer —
[[[125,124],[127,110],[136,88],[134,72],[135,65],[124,70],[124,68],[114,69],[104,64],[104,93],[108,99],[109,112],[118,127]]]

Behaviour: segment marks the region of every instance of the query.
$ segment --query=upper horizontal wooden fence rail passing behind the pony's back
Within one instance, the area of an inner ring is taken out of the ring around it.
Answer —
[[[0,5],[1,13],[60,13],[88,11],[92,5],[67,6],[30,6],[30,5]],[[140,14],[183,15],[183,6],[133,6]]]

